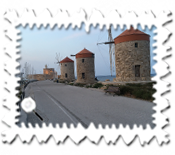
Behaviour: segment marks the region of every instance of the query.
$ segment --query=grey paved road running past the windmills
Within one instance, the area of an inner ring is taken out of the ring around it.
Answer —
[[[36,102],[36,113],[27,114],[26,122],[33,125],[42,122],[62,126],[66,122],[75,126],[80,122],[88,127],[90,122],[96,126],[120,123],[143,125],[152,123],[154,104],[143,100],[122,96],[104,95],[102,90],[81,88],[52,81],[30,83],[25,90],[25,97],[32,97]]]

